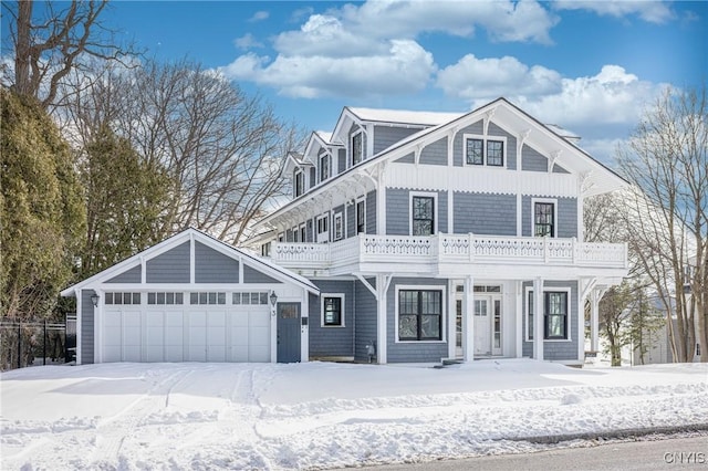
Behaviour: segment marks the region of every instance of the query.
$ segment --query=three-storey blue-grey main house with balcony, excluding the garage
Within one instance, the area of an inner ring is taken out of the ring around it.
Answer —
[[[503,98],[466,114],[345,107],[284,172],[251,240],[306,278],[311,358],[582,364],[585,301],[627,273],[583,241],[583,200],[626,181]],[[539,313],[538,315],[535,313]]]

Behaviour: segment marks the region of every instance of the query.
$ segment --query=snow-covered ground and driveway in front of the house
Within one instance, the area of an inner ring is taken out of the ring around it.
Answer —
[[[335,468],[708,422],[706,364],[105,364],[0,379],[3,470]]]

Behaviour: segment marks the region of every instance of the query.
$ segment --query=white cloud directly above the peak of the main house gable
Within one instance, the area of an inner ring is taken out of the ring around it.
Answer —
[[[447,95],[493,100],[510,93],[535,96],[559,93],[561,75],[541,65],[529,67],[516,57],[477,59],[467,54],[438,73],[437,85]]]

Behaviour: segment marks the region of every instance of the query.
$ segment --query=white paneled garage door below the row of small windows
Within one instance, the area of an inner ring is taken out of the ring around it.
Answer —
[[[107,305],[102,362],[270,362],[270,308]]]

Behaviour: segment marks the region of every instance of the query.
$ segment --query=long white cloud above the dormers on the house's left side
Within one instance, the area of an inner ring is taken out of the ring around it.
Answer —
[[[231,80],[273,86],[283,95],[372,96],[425,88],[436,66],[433,55],[410,40],[392,40],[385,53],[367,56],[278,55],[274,61],[241,55],[220,72]]]

